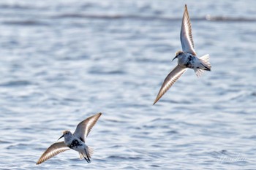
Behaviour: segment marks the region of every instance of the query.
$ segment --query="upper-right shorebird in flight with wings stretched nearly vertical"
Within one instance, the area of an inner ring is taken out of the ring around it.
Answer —
[[[165,78],[154,104],[157,103],[157,101],[174,84],[174,82],[176,82],[176,80],[178,80],[178,78],[187,71],[187,69],[194,69],[197,77],[200,77],[204,71],[211,71],[211,63],[209,61],[210,55],[207,54],[198,58],[195,53],[187,4],[185,5],[185,11],[181,23],[180,39],[182,51],[176,52],[176,56],[173,58],[173,60],[178,58],[178,65]]]

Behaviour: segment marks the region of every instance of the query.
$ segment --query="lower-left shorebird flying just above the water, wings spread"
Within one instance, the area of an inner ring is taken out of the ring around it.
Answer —
[[[64,137],[64,142],[56,142],[42,154],[42,156],[37,161],[37,164],[47,161],[53,156],[64,152],[66,150],[72,149],[79,152],[80,159],[84,158],[88,163],[91,162],[90,158],[93,153],[93,149],[86,145],[86,137],[89,135],[91,128],[95,125],[102,113],[97,113],[86,120],[80,122],[75,129],[74,134],[70,131],[64,131],[63,135],[59,138]],[[59,140],[58,139],[58,140]]]

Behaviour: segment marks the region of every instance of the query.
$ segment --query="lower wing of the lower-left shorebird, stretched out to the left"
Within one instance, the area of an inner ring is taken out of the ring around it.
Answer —
[[[48,147],[47,150],[45,150],[45,152],[42,154],[42,156],[37,161],[37,164],[47,161],[48,159],[52,158],[53,156],[55,156],[61,152],[64,152],[66,150],[69,150],[69,147],[67,147],[66,144],[64,144],[64,142],[56,142],[56,143],[50,145],[50,147]]]

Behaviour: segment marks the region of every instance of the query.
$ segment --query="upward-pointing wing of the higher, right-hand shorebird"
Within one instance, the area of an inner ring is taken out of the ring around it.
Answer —
[[[196,55],[187,5],[185,5],[185,11],[181,23],[181,46],[184,52]]]

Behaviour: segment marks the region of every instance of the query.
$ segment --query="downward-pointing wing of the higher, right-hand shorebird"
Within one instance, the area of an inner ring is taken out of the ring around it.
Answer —
[[[156,100],[154,101],[154,104],[157,103],[157,101],[165,94],[165,92],[178,80],[179,77],[181,77],[184,72],[186,72],[186,68],[183,68],[181,66],[176,66],[165,78],[165,81],[162,83],[162,87],[159,90],[159,93],[157,95]]]

